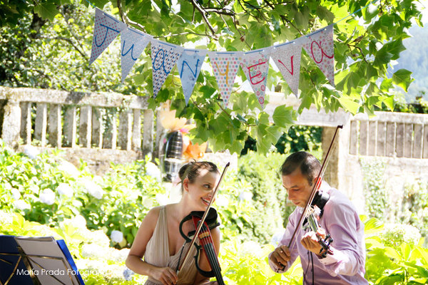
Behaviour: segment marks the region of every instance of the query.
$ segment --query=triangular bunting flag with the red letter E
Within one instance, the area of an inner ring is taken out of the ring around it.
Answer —
[[[267,71],[269,71],[270,48],[244,53],[240,66],[243,69],[251,88],[263,108],[265,103]]]

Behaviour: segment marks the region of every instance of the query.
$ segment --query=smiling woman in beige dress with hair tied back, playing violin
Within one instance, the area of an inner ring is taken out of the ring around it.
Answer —
[[[220,173],[212,162],[190,162],[180,168],[182,197],[180,202],[151,209],[141,222],[136,239],[126,259],[126,266],[137,274],[147,275],[145,285],[157,284],[208,284],[202,276],[193,256],[196,248],[190,249],[192,258],[183,262],[190,243],[185,242],[179,231],[180,222],[193,211],[205,211],[213,198]],[[183,223],[184,233],[195,231],[192,220]],[[220,249],[220,230],[211,229],[216,252]],[[198,239],[196,239],[198,244]],[[144,259],[142,259],[144,257]],[[207,257],[200,252],[200,269],[210,271]],[[178,266],[181,269],[176,274]]]

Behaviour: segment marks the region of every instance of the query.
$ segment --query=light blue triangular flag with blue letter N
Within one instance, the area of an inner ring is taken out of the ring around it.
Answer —
[[[195,88],[196,79],[198,79],[200,68],[206,55],[206,50],[185,49],[177,61],[186,105],[189,102],[190,95],[192,95],[193,88]]]

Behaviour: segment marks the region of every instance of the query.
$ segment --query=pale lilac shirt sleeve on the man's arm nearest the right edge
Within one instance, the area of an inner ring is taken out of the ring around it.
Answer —
[[[333,238],[332,254],[319,259],[325,271],[332,276],[353,276],[359,269],[364,270],[365,256],[359,248],[363,231],[360,227],[364,226],[355,209],[350,204],[335,204],[325,208],[323,218],[326,232]]]

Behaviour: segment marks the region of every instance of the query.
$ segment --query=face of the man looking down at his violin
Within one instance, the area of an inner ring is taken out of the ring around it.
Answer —
[[[312,186],[309,185],[307,178],[302,175],[298,167],[290,175],[282,175],[282,186],[287,190],[288,199],[298,207],[305,207],[309,200]],[[313,183],[313,182],[312,182]]]

